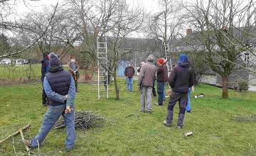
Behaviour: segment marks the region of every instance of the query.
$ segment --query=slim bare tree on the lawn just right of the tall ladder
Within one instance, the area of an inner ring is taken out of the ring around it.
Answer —
[[[128,55],[130,51],[124,51],[121,49],[121,45],[124,42],[124,38],[130,33],[139,30],[144,23],[144,10],[138,6],[132,9],[126,1],[119,1],[119,9],[117,10],[117,16],[114,16],[112,23],[114,28],[110,30],[110,34],[113,36],[110,45],[109,58],[111,60],[110,73],[114,77],[114,89],[116,93],[116,99],[119,99],[119,87],[117,84],[117,67],[119,60]]]

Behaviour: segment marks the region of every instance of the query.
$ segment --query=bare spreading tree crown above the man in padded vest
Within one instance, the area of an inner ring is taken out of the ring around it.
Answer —
[[[48,19],[51,16],[51,12],[48,8],[43,11],[28,13],[25,18],[21,19],[21,23],[26,29],[18,31],[18,35],[21,36],[21,40],[35,40],[43,33],[48,27],[48,30],[44,33],[43,37],[40,38],[36,45],[39,53],[45,51],[56,51],[62,50],[60,57],[64,57],[69,50],[73,50],[73,43],[80,37],[77,23],[72,17],[71,13],[68,13],[66,9],[59,9],[56,11],[53,18],[53,22],[48,26]]]

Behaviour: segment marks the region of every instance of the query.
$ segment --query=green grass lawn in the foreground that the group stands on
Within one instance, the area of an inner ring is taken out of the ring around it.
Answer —
[[[134,82],[134,86],[135,86]],[[238,122],[235,114],[256,113],[256,93],[230,91],[230,99],[220,99],[221,89],[208,85],[195,87],[195,93],[206,94],[192,98],[192,113],[186,113],[183,129],[162,125],[166,117],[164,106],[153,106],[153,113],[139,112],[139,91],[128,92],[124,79],[119,79],[119,101],[97,99],[91,84],[79,84],[76,110],[92,110],[105,117],[105,126],[87,131],[76,130],[74,150],[65,151],[65,130],[51,130],[40,153],[44,155],[256,155],[256,123]],[[46,107],[41,106],[41,84],[0,87],[0,139],[31,123],[25,138],[36,135]],[[153,103],[157,101],[153,98]],[[137,116],[129,116],[136,114]],[[174,125],[178,117],[175,107]],[[183,133],[193,131],[193,136]],[[0,155],[15,155],[12,139],[0,145]],[[14,137],[17,155],[25,152],[20,135]],[[37,153],[38,150],[34,149]]]

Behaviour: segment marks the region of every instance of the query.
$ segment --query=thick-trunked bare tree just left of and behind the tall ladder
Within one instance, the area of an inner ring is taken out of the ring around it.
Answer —
[[[112,22],[119,10],[119,0],[66,0],[69,11],[79,23],[81,34],[80,63],[84,66],[95,65],[96,42],[98,35],[103,35],[115,27]]]

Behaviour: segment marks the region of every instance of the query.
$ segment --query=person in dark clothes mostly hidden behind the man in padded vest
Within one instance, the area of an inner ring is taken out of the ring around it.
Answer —
[[[49,57],[48,57],[49,52],[44,52],[43,53],[43,60],[41,60],[41,81],[43,84],[43,79],[46,76],[46,74],[49,72],[50,69],[50,65],[49,65]],[[42,91],[42,104],[43,106],[47,106],[48,105],[48,99],[46,96],[46,91]]]

